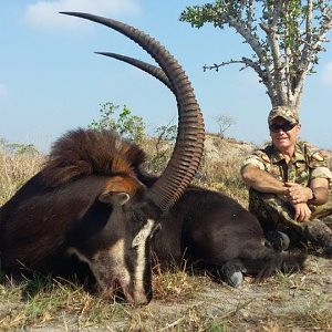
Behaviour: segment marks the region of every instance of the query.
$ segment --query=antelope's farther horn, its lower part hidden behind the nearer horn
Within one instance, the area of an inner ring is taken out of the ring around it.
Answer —
[[[168,77],[166,76],[166,74],[163,72],[163,70],[160,68],[153,65],[151,63],[141,61],[138,59],[122,55],[118,53],[111,53],[111,52],[95,52],[95,53],[132,64],[132,65],[141,69],[142,71],[151,74],[152,76],[156,77],[157,80],[159,80],[173,92],[173,86],[172,86]]]

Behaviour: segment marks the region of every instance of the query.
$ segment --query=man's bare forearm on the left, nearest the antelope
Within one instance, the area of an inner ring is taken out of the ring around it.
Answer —
[[[277,195],[286,195],[288,191],[282,181],[253,165],[248,164],[243,166],[241,176],[246,185],[258,191]]]

